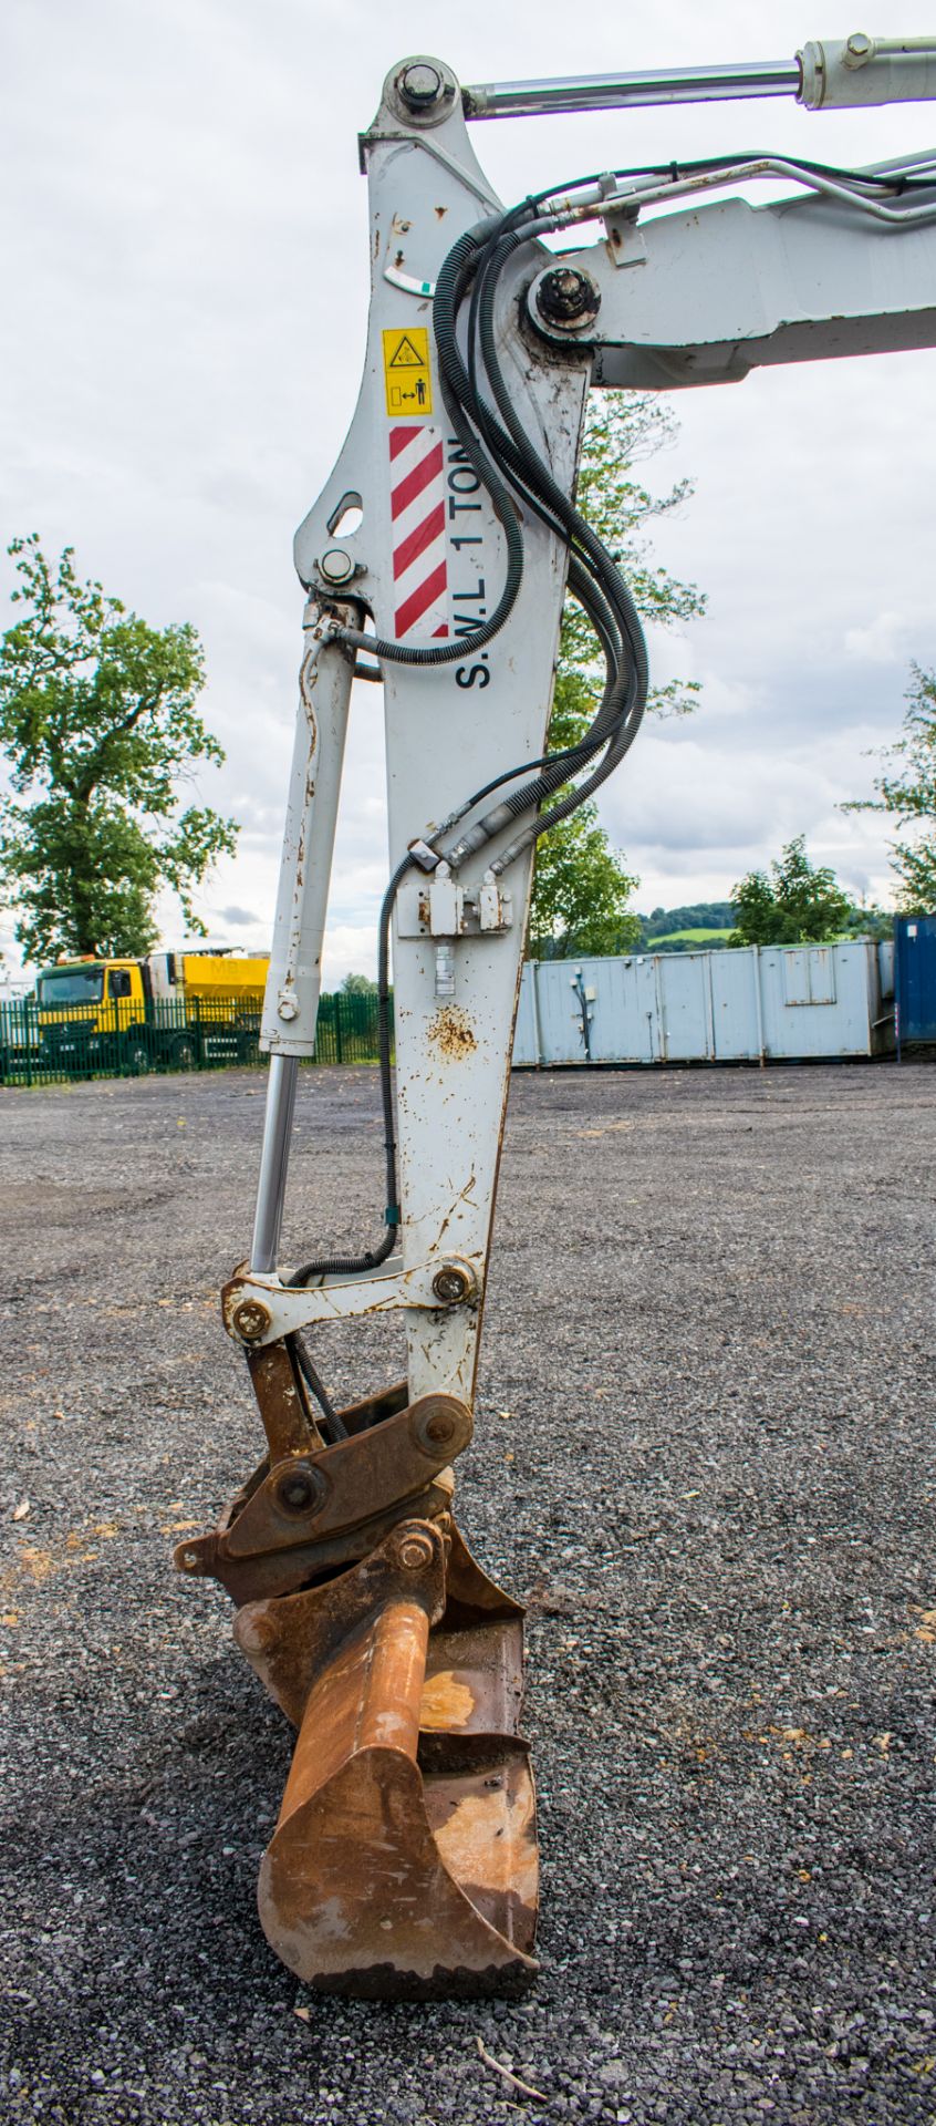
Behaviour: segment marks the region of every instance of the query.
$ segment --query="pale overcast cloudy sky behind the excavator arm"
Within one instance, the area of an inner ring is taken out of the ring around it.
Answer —
[[[227,748],[200,795],[242,821],[202,899],[212,935],[270,935],[301,621],[291,538],[357,398],[357,132],[384,72],[405,51],[439,53],[463,81],[790,60],[855,28],[840,0],[821,19],[802,9],[4,0],[0,536],[70,542],[151,623],[200,627],[204,708]],[[932,32],[932,4],[877,0],[862,28]],[[503,121],[473,140],[514,202],[579,168],[741,147],[862,164],[934,132],[928,106],[809,115],[777,100]],[[705,693],[692,721],[641,733],[605,797],[641,908],[722,897],[800,831],[849,889],[889,899],[887,836],[836,806],[870,789],[866,753],[898,731],[911,657],[936,661],[934,359],[802,364],[675,395],[679,440],[645,470],[696,491],[654,544],[705,587],[709,614],[652,648],[658,676],[692,674]],[[382,816],[380,693],[359,687],[327,982],[374,967]],[[170,904],[163,916],[178,938]]]

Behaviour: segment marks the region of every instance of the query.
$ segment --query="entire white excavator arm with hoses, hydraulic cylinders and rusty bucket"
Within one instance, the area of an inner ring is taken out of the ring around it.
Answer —
[[[267,1450],[219,1529],[176,1552],[183,1573],[227,1588],[238,1643],[297,1728],[259,1907],[278,1956],[325,1990],[512,1990],[537,1969],[522,1609],[465,1548],[452,1463],[473,1427],[535,842],[624,759],[647,693],[630,593],[573,500],[588,387],[722,383],[936,338],[932,157],[860,172],[722,157],[505,213],[467,132],[512,111],[717,94],[813,108],[934,96],[936,40],[484,89],[405,60],[361,142],[367,353],[295,542],[308,606],[267,1112],[250,1259],[223,1295]],[[792,189],[779,206],[736,198],[777,176]],[[565,230],[571,251],[554,247]],[[552,757],[567,593],[605,687],[586,738]],[[318,1239],[282,1265],[354,676],[382,678],[386,710],[384,1171],[354,1252]],[[340,1405],[327,1329],[384,1314],[405,1327],[405,1380]]]

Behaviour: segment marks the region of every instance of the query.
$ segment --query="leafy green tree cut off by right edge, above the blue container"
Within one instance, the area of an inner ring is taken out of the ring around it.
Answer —
[[[887,812],[913,840],[891,842],[898,906],[904,914],[936,908],[936,672],[911,665],[902,738],[883,746],[894,772],[874,780],[874,797],[860,797],[843,812]]]

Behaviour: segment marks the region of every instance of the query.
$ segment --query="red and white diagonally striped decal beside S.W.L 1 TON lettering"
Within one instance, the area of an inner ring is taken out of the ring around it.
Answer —
[[[391,427],[393,636],[448,636],[446,470],[441,434],[420,421]]]

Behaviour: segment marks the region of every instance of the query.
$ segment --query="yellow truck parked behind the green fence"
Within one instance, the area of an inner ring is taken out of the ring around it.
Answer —
[[[216,946],[57,961],[36,980],[40,1054],[74,1076],[250,1061],[267,965]]]

